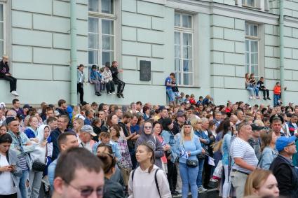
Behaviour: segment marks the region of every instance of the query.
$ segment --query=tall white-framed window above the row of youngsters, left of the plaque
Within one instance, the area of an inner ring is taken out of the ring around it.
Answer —
[[[88,66],[114,60],[114,0],[89,0]]]

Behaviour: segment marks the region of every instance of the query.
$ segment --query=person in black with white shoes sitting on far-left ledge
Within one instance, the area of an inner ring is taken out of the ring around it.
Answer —
[[[11,76],[9,73],[9,66],[8,66],[8,56],[3,55],[2,60],[0,61],[0,78],[4,78],[4,80],[9,81],[9,85],[11,87],[11,94],[15,97],[18,97],[19,94],[16,92],[17,90],[17,78]]]

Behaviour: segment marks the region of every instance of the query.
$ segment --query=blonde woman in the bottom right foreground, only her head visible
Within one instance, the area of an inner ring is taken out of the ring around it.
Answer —
[[[244,196],[278,197],[278,182],[271,171],[255,169],[246,179]]]

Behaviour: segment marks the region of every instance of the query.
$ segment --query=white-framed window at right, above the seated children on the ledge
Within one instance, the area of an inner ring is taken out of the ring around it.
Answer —
[[[259,77],[259,34],[258,25],[245,23],[245,64],[246,73]]]

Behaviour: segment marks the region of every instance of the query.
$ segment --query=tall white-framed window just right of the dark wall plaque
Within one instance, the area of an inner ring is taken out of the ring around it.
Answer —
[[[175,76],[178,85],[194,85],[193,17],[175,13]]]

